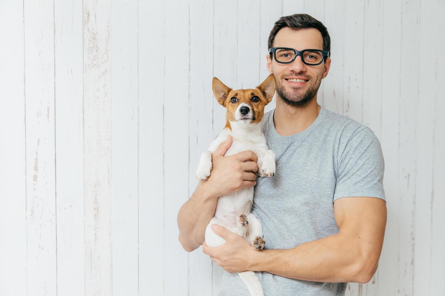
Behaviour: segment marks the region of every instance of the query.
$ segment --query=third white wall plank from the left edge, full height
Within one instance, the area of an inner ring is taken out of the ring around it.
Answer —
[[[82,3],[54,2],[57,293],[85,293]]]

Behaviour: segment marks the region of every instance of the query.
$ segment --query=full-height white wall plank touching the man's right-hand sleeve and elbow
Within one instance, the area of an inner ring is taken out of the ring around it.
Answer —
[[[399,221],[399,204],[402,202],[399,197],[399,189],[396,185],[398,179],[398,153],[399,153],[399,109],[401,105],[400,83],[403,79],[401,75],[401,2],[385,1],[383,3],[383,52],[392,52],[398,56],[394,59],[392,55],[382,55],[382,133],[380,144],[384,155],[384,190],[386,196],[387,222],[383,249],[380,255],[379,267],[377,270],[378,295],[388,293],[402,293],[398,283],[401,270],[397,268],[399,261],[398,242],[401,227],[406,227]]]

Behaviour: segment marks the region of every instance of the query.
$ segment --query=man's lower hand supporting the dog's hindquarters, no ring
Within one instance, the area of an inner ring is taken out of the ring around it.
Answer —
[[[204,241],[202,252],[209,255],[210,259],[230,273],[251,270],[251,262],[255,260],[255,255],[258,251],[253,249],[243,237],[221,225],[212,224],[212,230],[220,237],[223,237],[226,243],[219,247],[211,248]]]

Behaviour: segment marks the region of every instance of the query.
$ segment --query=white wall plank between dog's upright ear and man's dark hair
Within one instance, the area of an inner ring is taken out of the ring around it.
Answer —
[[[259,17],[259,81],[262,83],[264,79],[269,76],[267,71],[267,55],[269,55],[269,47],[267,46],[267,40],[274,27],[275,22],[282,16],[282,5],[270,5],[270,1],[261,0],[260,4],[260,17]],[[275,109],[276,96],[274,95],[272,102],[264,107],[264,113]]]

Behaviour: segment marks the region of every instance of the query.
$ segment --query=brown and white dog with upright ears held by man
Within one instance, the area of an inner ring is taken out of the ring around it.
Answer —
[[[232,144],[224,156],[251,150],[257,155],[258,170],[255,174],[260,177],[275,175],[275,153],[268,149],[266,138],[261,130],[264,107],[271,102],[275,87],[273,74],[255,89],[235,91],[224,85],[218,78],[213,78],[213,94],[218,103],[227,109],[226,125],[210,144],[209,149],[201,154],[196,172],[198,180],[206,180],[210,176],[212,153],[228,135],[232,136]],[[205,241],[208,246],[217,247],[226,242],[210,228],[215,223],[244,237],[255,249],[263,249],[266,241],[263,237],[261,222],[251,213],[253,191],[253,187],[242,188],[218,197],[215,215],[206,227]],[[263,296],[263,288],[253,271],[238,272],[238,274],[252,296]]]

